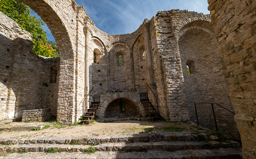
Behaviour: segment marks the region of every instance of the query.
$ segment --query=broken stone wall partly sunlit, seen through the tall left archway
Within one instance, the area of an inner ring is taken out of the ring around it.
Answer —
[[[35,55],[31,35],[3,13],[0,16],[1,120],[21,119],[23,110],[43,108],[51,108],[49,113],[56,117],[59,58]]]

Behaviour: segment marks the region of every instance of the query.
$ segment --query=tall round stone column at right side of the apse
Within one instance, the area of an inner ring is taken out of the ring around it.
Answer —
[[[149,79],[150,79],[150,86],[154,86],[154,72],[153,72],[153,65],[152,65],[152,57],[151,57],[151,49],[150,49],[150,41],[149,41],[149,22],[144,23],[143,30],[146,33],[146,52],[148,54],[148,65],[149,65]]]

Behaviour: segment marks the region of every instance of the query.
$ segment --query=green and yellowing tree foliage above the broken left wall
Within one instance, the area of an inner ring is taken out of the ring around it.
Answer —
[[[31,10],[27,5],[17,0],[1,0],[0,11],[14,20],[21,29],[32,35],[32,42],[35,43],[32,48],[36,55],[57,57],[57,53],[55,53],[57,49],[51,47],[51,44],[47,44],[47,34],[42,28],[42,25],[45,25],[44,21],[41,18],[37,19],[36,16],[31,16]]]

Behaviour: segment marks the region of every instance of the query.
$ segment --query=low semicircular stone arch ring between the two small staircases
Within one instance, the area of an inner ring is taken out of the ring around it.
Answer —
[[[108,107],[108,105],[113,102],[114,100],[118,99],[118,98],[126,98],[129,100],[132,100],[133,102],[135,102],[140,110],[140,114],[142,114],[142,116],[146,115],[146,111],[144,109],[144,107],[142,106],[142,104],[140,103],[140,99],[134,95],[128,94],[128,93],[115,93],[114,95],[108,97],[102,104],[101,104],[101,108],[100,108],[100,112],[99,112],[99,117],[103,118],[105,116],[105,111]]]

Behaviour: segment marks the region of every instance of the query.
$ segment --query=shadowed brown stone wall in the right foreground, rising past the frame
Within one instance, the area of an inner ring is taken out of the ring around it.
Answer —
[[[255,158],[256,1],[208,0],[228,92],[241,135],[243,158]]]

